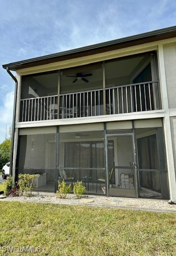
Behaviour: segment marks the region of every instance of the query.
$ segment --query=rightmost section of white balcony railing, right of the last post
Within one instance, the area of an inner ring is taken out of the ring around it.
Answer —
[[[158,82],[106,88],[106,114],[159,109]]]

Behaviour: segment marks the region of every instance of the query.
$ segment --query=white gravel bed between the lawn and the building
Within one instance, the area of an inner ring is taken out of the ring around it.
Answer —
[[[159,209],[159,210],[176,210],[176,204],[168,204],[164,200],[152,200],[152,199],[142,199],[142,198],[119,198],[119,197],[106,197],[106,196],[94,196],[94,195],[85,195],[84,199],[91,199],[93,202],[89,204],[93,205],[114,205],[114,206],[126,206],[126,207],[136,207],[136,208],[149,208],[149,209]],[[3,199],[2,199],[3,200]],[[61,199],[56,196],[54,193],[45,193],[45,192],[34,192],[31,198],[26,196],[19,197],[7,197],[7,201],[50,201],[50,202],[63,202],[63,203],[79,203],[80,199],[77,199],[73,194],[68,194],[66,199]],[[86,202],[85,202],[86,204]]]

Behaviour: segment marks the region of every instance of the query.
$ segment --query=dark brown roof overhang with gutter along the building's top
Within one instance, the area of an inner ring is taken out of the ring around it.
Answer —
[[[176,26],[2,65],[18,70],[176,37]]]

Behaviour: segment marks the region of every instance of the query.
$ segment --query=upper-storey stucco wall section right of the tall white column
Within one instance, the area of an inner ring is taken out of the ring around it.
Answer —
[[[176,42],[163,45],[169,108],[176,108]]]

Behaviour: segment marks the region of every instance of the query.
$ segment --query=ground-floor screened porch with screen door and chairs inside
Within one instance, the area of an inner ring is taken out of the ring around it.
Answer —
[[[39,191],[79,180],[90,194],[168,199],[162,119],[21,128],[20,173],[40,174]]]

